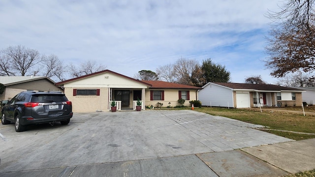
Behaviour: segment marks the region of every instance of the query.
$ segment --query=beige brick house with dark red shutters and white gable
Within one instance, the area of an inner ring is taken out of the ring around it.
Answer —
[[[64,88],[67,98],[72,101],[73,112],[95,112],[110,110],[115,100],[117,110],[135,109],[137,99],[145,106],[155,106],[158,102],[163,107],[179,105],[178,99],[197,99],[198,87],[163,81],[140,81],[122,74],[103,70],[78,78],[56,83]]]

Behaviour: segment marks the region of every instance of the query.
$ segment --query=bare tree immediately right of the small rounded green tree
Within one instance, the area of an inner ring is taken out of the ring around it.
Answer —
[[[158,66],[157,75],[160,79],[166,82],[176,82],[175,69],[173,64],[165,64],[163,66]]]

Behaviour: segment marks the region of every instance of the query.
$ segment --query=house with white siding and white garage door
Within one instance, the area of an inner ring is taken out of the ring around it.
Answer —
[[[302,106],[302,89],[267,84],[208,83],[198,91],[203,106],[250,108]]]

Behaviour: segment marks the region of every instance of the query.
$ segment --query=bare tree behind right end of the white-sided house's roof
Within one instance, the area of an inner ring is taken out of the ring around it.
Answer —
[[[315,78],[307,73],[287,74],[278,80],[277,85],[284,87],[314,87]]]

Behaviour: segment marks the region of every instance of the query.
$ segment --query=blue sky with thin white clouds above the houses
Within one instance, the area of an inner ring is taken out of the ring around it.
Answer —
[[[65,64],[96,60],[133,77],[177,59],[211,58],[231,81],[261,75],[271,20],[283,0],[1,0],[0,49],[24,45]]]

